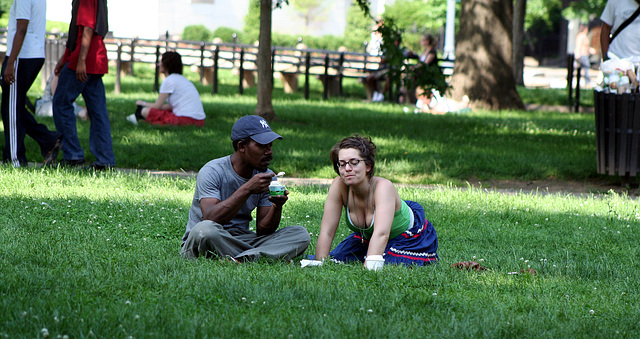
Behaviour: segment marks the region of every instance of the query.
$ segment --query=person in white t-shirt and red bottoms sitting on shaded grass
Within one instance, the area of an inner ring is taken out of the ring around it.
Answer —
[[[144,120],[152,125],[204,126],[205,113],[196,86],[182,75],[182,57],[177,52],[162,54],[160,72],[166,78],[154,103],[136,101],[137,109],[127,117],[134,125]]]

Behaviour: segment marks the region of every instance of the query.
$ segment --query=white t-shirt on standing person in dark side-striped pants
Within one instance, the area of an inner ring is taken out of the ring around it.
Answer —
[[[18,19],[29,20],[18,58],[44,58],[44,35],[47,32],[46,0],[15,0],[9,10],[7,26],[7,56],[11,55],[13,38],[16,35]]]

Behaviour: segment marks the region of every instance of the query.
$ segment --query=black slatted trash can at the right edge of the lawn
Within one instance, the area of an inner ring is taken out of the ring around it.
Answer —
[[[598,173],[635,177],[640,158],[640,94],[594,91]]]

